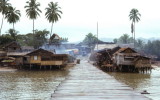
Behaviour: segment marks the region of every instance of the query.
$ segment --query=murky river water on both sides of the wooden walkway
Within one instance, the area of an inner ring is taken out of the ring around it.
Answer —
[[[15,71],[0,72],[0,100],[49,100],[58,84],[69,71]],[[160,68],[151,74],[108,73],[137,92],[147,90],[145,96],[160,100]]]

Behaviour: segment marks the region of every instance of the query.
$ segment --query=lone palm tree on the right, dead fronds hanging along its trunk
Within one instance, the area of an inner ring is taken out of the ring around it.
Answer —
[[[132,33],[134,33],[134,46],[135,46],[135,23],[140,20],[140,16],[141,16],[141,14],[139,13],[139,11],[137,9],[135,9],[135,8],[131,9],[130,14],[129,14],[129,18],[130,18],[130,20],[132,20],[131,31],[132,31]]]

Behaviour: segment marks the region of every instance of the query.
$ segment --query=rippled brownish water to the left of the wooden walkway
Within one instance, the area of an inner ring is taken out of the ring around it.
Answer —
[[[0,72],[0,100],[49,100],[68,71]]]

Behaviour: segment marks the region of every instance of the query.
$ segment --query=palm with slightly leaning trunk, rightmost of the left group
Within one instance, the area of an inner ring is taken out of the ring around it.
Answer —
[[[59,9],[61,9],[61,7],[58,6],[58,3],[53,3],[50,2],[48,4],[48,7],[46,8],[46,13],[45,16],[47,18],[47,20],[49,21],[49,23],[51,22],[51,33],[50,33],[50,37],[52,35],[52,29],[53,29],[53,23],[57,22],[59,18],[61,18],[62,11],[60,11]]]

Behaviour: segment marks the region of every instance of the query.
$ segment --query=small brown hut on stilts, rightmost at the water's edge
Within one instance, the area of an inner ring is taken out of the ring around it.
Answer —
[[[135,61],[135,68],[138,72],[151,72],[151,58],[138,56]]]

